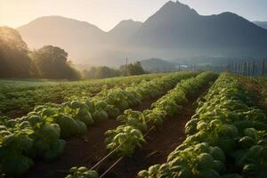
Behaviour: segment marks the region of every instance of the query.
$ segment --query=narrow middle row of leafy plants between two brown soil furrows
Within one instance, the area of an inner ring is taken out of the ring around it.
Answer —
[[[167,117],[180,114],[182,105],[188,101],[187,98],[198,93],[201,87],[208,85],[215,77],[217,75],[212,72],[203,72],[197,77],[182,80],[174,89],[154,102],[151,109],[143,112],[125,110],[123,115],[117,117],[122,125],[106,132],[107,150],[112,151],[115,158],[132,155],[136,147],[142,147],[142,143],[145,142],[143,134],[153,126],[162,125]],[[67,178],[82,177],[97,178],[98,175],[95,171],[82,166],[72,167],[67,176]]]

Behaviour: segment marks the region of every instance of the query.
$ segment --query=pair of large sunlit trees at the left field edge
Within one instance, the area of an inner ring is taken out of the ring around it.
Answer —
[[[50,79],[79,79],[68,53],[53,45],[29,51],[19,32],[13,28],[0,27],[0,77],[40,77]]]

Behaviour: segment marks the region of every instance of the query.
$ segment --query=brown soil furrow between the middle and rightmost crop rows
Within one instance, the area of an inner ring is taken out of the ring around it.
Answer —
[[[167,156],[185,140],[184,126],[195,114],[195,101],[198,96],[206,93],[207,89],[207,87],[202,88],[198,94],[191,97],[183,106],[182,114],[166,118],[166,122],[160,128],[147,134],[145,138],[147,142],[142,149],[136,150],[131,158],[123,158],[104,177],[134,178],[143,169],[165,163]],[[98,172],[103,174],[115,161],[107,160],[105,165],[99,167]]]

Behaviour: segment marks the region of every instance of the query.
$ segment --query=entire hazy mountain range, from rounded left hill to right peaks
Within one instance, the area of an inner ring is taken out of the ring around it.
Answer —
[[[173,60],[206,56],[249,58],[267,55],[267,30],[232,12],[200,15],[170,1],[143,23],[123,20],[109,32],[87,22],[44,17],[19,28],[31,48],[54,44],[71,60],[117,66],[125,58]]]

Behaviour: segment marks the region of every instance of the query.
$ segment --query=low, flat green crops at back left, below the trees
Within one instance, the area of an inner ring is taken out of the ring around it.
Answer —
[[[0,81],[0,116],[18,116],[28,113],[36,105],[46,102],[61,103],[92,97],[101,90],[112,87],[125,88],[142,81],[150,81],[168,74],[150,74],[134,77],[85,80],[79,82]]]

